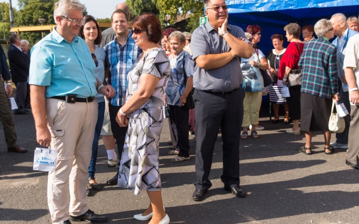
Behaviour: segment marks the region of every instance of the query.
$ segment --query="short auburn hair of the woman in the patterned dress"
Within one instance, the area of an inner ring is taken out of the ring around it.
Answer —
[[[159,43],[162,38],[160,19],[153,13],[144,13],[137,16],[131,23],[132,27],[146,30],[149,41]]]

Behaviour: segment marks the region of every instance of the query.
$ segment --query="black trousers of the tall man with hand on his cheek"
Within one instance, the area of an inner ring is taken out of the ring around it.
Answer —
[[[208,180],[212,165],[214,144],[219,127],[223,141],[223,174],[225,185],[239,186],[239,138],[243,121],[244,92],[241,88],[223,95],[194,91],[196,189],[207,190],[212,186]]]

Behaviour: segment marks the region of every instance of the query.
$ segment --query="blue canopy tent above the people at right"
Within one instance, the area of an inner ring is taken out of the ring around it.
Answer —
[[[248,25],[262,28],[258,45],[264,54],[273,48],[271,35],[285,35],[283,28],[288,23],[296,22],[302,27],[314,25],[322,18],[330,19],[338,12],[347,17],[359,15],[359,0],[227,0],[226,3],[229,24],[244,31]]]

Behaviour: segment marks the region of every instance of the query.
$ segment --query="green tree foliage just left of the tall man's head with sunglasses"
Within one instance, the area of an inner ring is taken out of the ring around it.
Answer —
[[[185,13],[191,13],[187,30],[192,32],[199,26],[199,17],[203,16],[203,1],[202,0],[157,0],[157,5],[160,8],[160,19],[165,21],[166,14],[171,15],[170,25],[173,25],[178,15],[184,17]]]

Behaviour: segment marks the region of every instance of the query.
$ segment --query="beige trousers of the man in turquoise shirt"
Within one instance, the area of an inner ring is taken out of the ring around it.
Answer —
[[[54,172],[49,172],[47,203],[52,223],[69,220],[87,212],[86,185],[92,155],[92,141],[97,121],[98,104],[69,104],[46,98],[47,126],[51,148],[57,149]],[[67,201],[69,184],[70,203]]]

